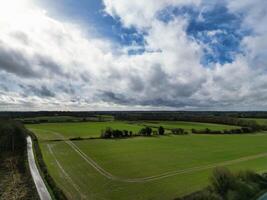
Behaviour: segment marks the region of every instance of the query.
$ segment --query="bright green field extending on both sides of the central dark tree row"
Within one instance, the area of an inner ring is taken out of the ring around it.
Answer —
[[[267,134],[88,139],[105,127],[145,125],[190,130],[231,126],[190,122],[86,122],[27,125],[39,138],[48,170],[70,199],[174,199],[205,187],[215,166],[267,170]]]

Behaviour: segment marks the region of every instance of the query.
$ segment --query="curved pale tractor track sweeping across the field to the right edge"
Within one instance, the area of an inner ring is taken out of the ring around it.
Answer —
[[[35,130],[37,130],[37,129],[35,129]],[[101,166],[99,166],[92,158],[90,158],[87,154],[85,154],[76,144],[74,144],[72,141],[66,140],[66,138],[63,135],[61,135],[60,133],[57,133],[54,131],[42,130],[42,129],[39,129],[39,130],[53,133],[54,135],[62,138],[62,141],[64,141],[66,144],[68,144],[89,165],[91,165],[91,167],[93,167],[97,172],[99,172],[101,175],[103,175],[107,179],[119,181],[119,182],[127,182],[127,183],[152,182],[152,181],[156,181],[156,180],[160,180],[160,179],[164,179],[164,178],[168,178],[168,177],[172,177],[172,176],[177,176],[177,175],[181,175],[181,174],[189,174],[189,173],[193,173],[193,172],[204,171],[204,170],[213,169],[216,167],[224,167],[224,166],[233,165],[233,164],[237,164],[237,163],[241,163],[241,162],[245,162],[245,161],[250,161],[250,160],[255,160],[258,158],[267,157],[267,152],[265,152],[265,153],[261,153],[261,154],[257,154],[257,155],[246,156],[246,157],[242,157],[242,158],[238,158],[238,159],[234,159],[234,160],[229,160],[229,161],[220,162],[220,163],[214,163],[214,164],[205,165],[205,166],[198,166],[198,167],[192,167],[192,168],[187,168],[187,169],[183,169],[183,170],[169,171],[169,172],[165,172],[165,173],[162,173],[159,175],[154,175],[154,176],[148,176],[148,177],[143,177],[143,178],[122,178],[122,177],[118,177],[118,176],[115,176],[115,175],[107,172],[105,169],[103,169]]]

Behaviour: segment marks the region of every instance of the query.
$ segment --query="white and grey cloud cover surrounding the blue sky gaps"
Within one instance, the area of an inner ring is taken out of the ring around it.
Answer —
[[[52,18],[31,1],[8,2],[0,3],[1,110],[265,105],[267,20],[259,3],[229,1],[232,12],[247,12],[244,26],[256,34],[242,41],[246,54],[233,63],[205,68],[200,64],[205,44],[187,35],[188,19],[176,16],[165,23],[157,18],[167,6],[201,7],[200,0],[104,0],[106,12],[125,27],[146,31],[146,51],[138,55],[85,33],[78,24]],[[254,25],[258,9],[263,19]]]

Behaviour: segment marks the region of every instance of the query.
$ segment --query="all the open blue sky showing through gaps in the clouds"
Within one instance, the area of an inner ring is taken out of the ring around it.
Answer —
[[[58,15],[66,20],[80,21],[85,26],[94,27],[96,34],[108,38],[123,46],[133,43],[144,46],[145,30],[135,27],[126,28],[119,17],[112,17],[104,12],[104,3],[100,0],[47,0],[49,14]],[[177,16],[189,19],[187,34],[192,39],[206,45],[201,63],[210,66],[213,63],[231,63],[235,55],[242,53],[240,42],[251,33],[241,27],[242,13],[231,13],[226,3],[203,3],[202,7],[168,6],[158,12],[158,18],[169,22]],[[129,51],[129,54],[143,53],[144,49]]]

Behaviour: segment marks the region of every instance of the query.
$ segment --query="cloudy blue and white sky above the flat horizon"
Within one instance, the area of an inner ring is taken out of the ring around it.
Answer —
[[[267,110],[266,0],[0,2],[0,111]]]

